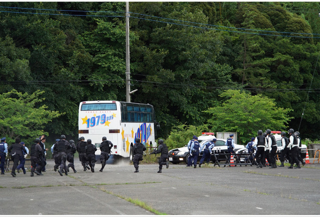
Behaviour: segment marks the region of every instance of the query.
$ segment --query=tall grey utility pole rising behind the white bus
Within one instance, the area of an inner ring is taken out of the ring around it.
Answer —
[[[125,2],[125,100],[130,102],[129,2]]]

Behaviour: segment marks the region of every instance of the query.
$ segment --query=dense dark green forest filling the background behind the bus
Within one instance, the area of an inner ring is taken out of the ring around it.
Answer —
[[[46,124],[49,137],[77,136],[81,101],[125,101],[125,2],[0,6],[0,93],[44,91],[37,106],[62,114]],[[231,89],[320,138],[319,2],[130,2],[129,11],[131,101],[154,106],[159,137],[184,125],[236,130],[203,112],[219,112]],[[285,129],[252,130],[266,126]]]

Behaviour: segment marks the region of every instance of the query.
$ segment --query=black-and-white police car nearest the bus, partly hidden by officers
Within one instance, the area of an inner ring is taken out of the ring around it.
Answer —
[[[198,137],[198,142],[200,143],[200,147],[208,141],[211,141],[212,139],[216,139],[214,136],[214,133],[202,133],[201,136]],[[211,149],[211,159],[210,161],[214,162],[214,154],[221,153],[228,153],[227,146],[225,144],[225,139],[216,139],[214,147]],[[243,145],[237,145],[234,144],[234,152],[235,153],[246,153],[247,149]],[[189,157],[189,150],[187,145],[181,148],[172,149],[169,151],[169,162],[172,164],[178,164],[178,163],[187,163],[187,159]],[[198,161],[202,158],[202,152],[198,156]],[[222,155],[221,159],[218,160],[225,160],[225,157]]]

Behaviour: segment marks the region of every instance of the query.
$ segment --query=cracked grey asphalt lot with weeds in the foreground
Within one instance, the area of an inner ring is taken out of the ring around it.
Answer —
[[[103,173],[0,176],[1,215],[319,215],[320,165],[302,169],[106,165]],[[132,201],[135,200],[135,201]],[[140,206],[136,205],[139,204]],[[146,209],[141,206],[145,204]],[[153,210],[152,210],[153,209]],[[158,214],[159,214],[158,213]]]

